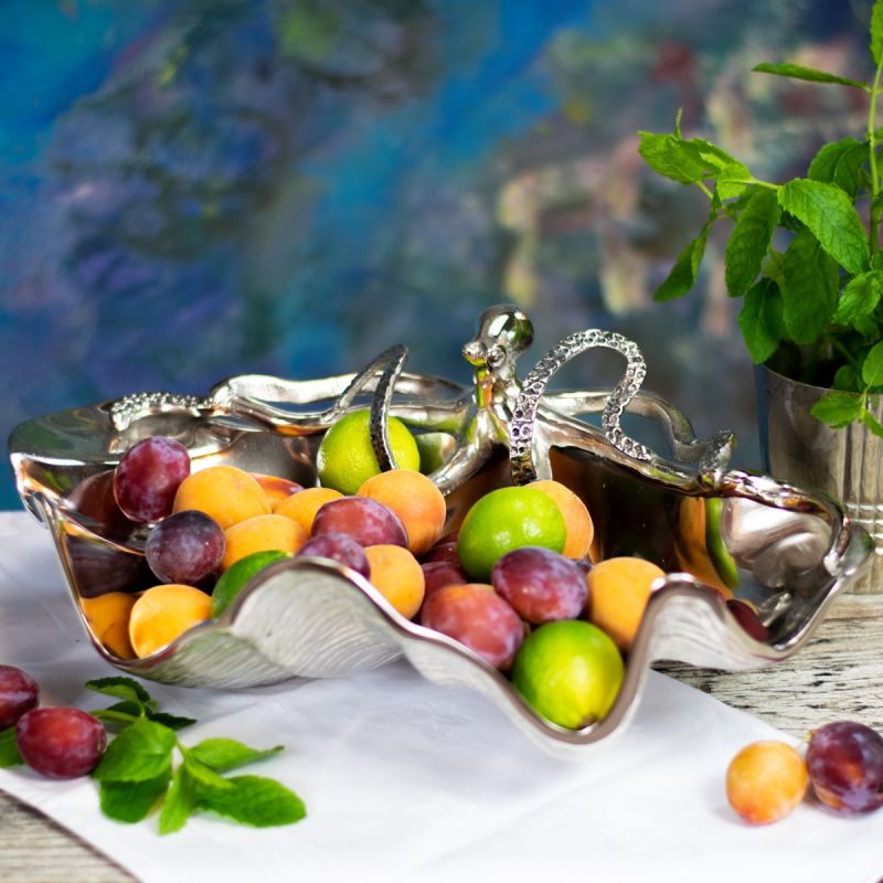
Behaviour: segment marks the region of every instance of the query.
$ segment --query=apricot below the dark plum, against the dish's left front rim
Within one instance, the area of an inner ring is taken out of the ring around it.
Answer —
[[[129,616],[129,640],[137,657],[171,643],[191,626],[211,617],[212,599],[182,583],[166,583],[143,592]]]

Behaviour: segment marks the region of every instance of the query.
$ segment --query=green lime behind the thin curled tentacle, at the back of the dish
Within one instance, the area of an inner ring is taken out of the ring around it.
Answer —
[[[371,447],[369,421],[371,412],[353,411],[341,417],[326,434],[316,455],[316,468],[322,487],[353,494],[364,482],[380,472],[374,448]],[[421,467],[417,443],[402,421],[390,417],[390,447],[400,469]]]

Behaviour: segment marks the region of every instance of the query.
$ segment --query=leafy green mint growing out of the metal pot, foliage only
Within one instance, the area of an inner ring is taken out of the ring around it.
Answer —
[[[762,63],[754,71],[869,96],[866,129],[823,145],[805,177],[773,182],[723,148],[687,138],[678,113],[671,132],[639,132],[638,151],[658,174],[696,187],[709,216],[678,255],[655,300],[683,297],[696,284],[711,228],[728,221],[724,258],[727,294],[745,298],[738,323],[752,360],[762,364],[787,345],[808,372],[833,363],[833,390],[812,413],[833,427],[860,421],[881,435],[871,396],[883,393],[883,187],[877,103],[883,94],[883,0],[871,14],[869,82],[797,64]],[[865,225],[865,221],[868,224]],[[808,373],[801,379],[815,382]]]

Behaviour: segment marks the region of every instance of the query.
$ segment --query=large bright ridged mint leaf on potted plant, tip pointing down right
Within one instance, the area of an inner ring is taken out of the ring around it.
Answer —
[[[821,247],[853,275],[868,266],[868,238],[850,198],[833,184],[796,178],[778,190],[779,205],[802,221]]]

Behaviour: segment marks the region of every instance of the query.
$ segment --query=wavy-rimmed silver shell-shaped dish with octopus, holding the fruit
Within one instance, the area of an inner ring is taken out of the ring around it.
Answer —
[[[642,392],[643,360],[632,342],[597,330],[573,334],[522,382],[515,362],[531,341],[526,316],[493,307],[464,347],[474,387],[405,372],[406,352],[394,347],[359,374],[299,382],[244,375],[205,397],[145,393],[29,421],[12,433],[10,458],[25,508],[52,532],[84,628],[118,669],[164,683],[246,688],[347,677],[404,656],[430,681],[482,693],[549,754],[586,757],[589,746],[625,730],[655,661],[743,670],[798,651],[865,566],[872,543],[837,502],[728,469],[732,435],[698,440],[678,408]],[[615,390],[546,392],[561,365],[595,347],[627,361]],[[387,414],[419,436],[426,469],[448,502],[449,528],[494,487],[554,477],[592,512],[594,556],[637,554],[668,573],[655,585],[604,720],[565,730],[540,717],[504,674],[405,619],[359,574],[322,558],[270,565],[220,619],[143,659],[118,659],[92,634],[81,597],[156,583],[142,552],[147,528],[129,522],[113,499],[113,468],[129,445],[172,436],[190,449],[194,470],[225,462],[309,486],[322,432],[357,407],[371,408],[372,444],[384,468],[395,465]],[[664,428],[671,459],[625,434],[626,412]],[[578,418],[593,413],[602,414],[600,428]],[[734,595],[759,609],[767,640],[751,637],[708,588],[723,578],[721,553],[706,543],[714,499],[722,500],[714,510],[730,575],[737,576]]]

